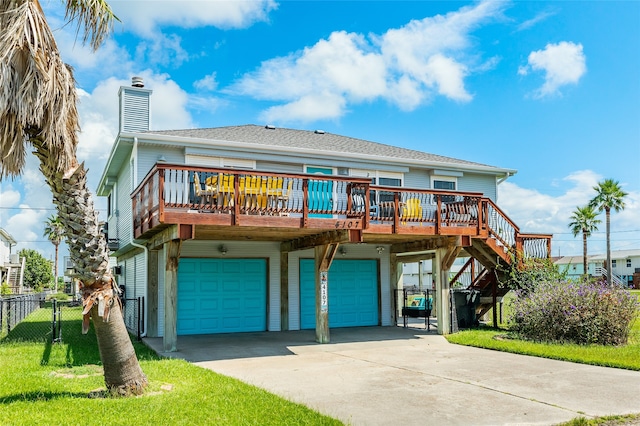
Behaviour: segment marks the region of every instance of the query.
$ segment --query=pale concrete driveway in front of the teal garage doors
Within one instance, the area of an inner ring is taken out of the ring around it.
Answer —
[[[180,336],[178,352],[353,425],[551,425],[640,413],[640,372],[449,344],[425,330],[364,327]],[[145,342],[162,350],[162,339]],[[640,354],[639,354],[640,356]]]

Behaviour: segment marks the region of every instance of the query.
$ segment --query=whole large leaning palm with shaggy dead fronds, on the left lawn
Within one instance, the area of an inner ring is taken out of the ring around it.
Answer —
[[[94,50],[117,19],[105,0],[67,0],[66,11]],[[1,0],[0,28],[0,180],[20,175],[26,153],[35,151],[83,285],[82,329],[93,321],[105,384],[118,393],[141,393],[147,378],[124,325],[87,170],[76,156],[80,125],[72,69],[60,57],[38,0]]]

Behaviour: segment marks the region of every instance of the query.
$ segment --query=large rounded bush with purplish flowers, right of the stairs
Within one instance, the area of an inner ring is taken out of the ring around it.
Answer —
[[[521,338],[600,345],[627,343],[639,303],[604,282],[543,281],[516,291],[509,325]]]

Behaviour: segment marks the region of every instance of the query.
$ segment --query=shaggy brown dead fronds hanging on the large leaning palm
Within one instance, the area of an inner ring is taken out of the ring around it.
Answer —
[[[34,1],[0,2],[0,180],[22,172],[26,144],[46,141],[57,169],[75,161],[75,80]]]

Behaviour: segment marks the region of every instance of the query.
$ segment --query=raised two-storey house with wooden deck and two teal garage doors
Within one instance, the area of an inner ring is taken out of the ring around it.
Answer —
[[[499,263],[549,256],[550,235],[521,233],[496,204],[512,169],[322,130],[150,130],[151,94],[138,78],[120,89],[97,193],[119,284],[145,297],[145,332],[167,351],[188,334],[315,329],[328,342],[334,327],[394,325],[401,265],[430,259],[448,333],[458,256],[484,265],[485,309]]]

